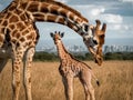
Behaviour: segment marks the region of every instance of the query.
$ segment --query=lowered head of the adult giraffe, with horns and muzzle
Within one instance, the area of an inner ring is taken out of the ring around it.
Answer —
[[[101,66],[103,61],[102,47],[104,44],[106,24],[103,23],[101,29],[100,20],[95,20],[95,27],[88,24],[83,27],[85,33],[82,34],[82,38],[89,51],[93,54],[95,62]]]

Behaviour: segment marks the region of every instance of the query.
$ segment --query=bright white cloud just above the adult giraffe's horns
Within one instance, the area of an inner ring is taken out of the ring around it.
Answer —
[[[73,6],[89,20],[100,19],[106,23],[122,23],[123,17],[120,14],[106,13],[104,6],[86,4],[86,6]]]

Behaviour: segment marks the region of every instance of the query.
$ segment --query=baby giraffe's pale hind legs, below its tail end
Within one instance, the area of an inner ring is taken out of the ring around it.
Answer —
[[[80,81],[84,88],[85,100],[95,100],[94,88],[91,83],[91,73],[86,72],[80,77]]]

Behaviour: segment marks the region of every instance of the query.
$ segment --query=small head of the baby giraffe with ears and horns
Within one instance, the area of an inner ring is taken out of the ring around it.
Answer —
[[[52,39],[53,39],[53,41],[54,41],[54,43],[57,44],[58,42],[60,42],[61,41],[61,38],[63,38],[63,32],[61,33],[60,31],[59,32],[54,32],[54,33],[50,33],[50,36],[52,37]]]

